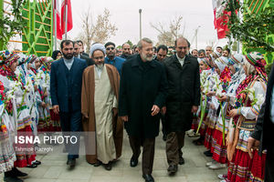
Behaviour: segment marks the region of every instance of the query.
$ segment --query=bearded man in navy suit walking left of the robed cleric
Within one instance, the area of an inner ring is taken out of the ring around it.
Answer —
[[[79,157],[79,131],[81,130],[82,73],[87,67],[84,60],[73,56],[74,42],[63,40],[61,52],[64,58],[52,63],[50,72],[50,96],[53,110],[59,114],[65,136],[76,136],[76,144],[65,144],[68,166],[74,167]]]

